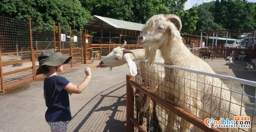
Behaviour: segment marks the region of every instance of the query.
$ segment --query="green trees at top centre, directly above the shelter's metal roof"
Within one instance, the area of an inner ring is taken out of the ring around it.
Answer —
[[[156,14],[176,14],[183,11],[187,0],[80,0],[92,15],[130,22],[145,23]]]

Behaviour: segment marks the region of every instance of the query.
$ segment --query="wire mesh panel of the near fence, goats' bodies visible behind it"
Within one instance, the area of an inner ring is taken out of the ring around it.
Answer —
[[[136,64],[137,83],[206,120],[212,127],[222,125],[218,127],[230,132],[256,130],[256,82],[160,63],[148,66],[144,61],[137,61]],[[240,121],[240,117],[250,121]],[[202,131],[195,122],[184,120],[172,109],[165,108],[138,90],[135,92],[134,118],[147,131]],[[218,124],[219,121],[222,124]],[[223,122],[230,124],[223,126]]]

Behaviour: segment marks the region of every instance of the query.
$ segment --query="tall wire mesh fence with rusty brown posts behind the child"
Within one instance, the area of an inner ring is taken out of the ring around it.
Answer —
[[[46,49],[58,49],[63,55],[72,56],[64,68],[82,64],[84,42],[84,32],[64,29],[60,24],[44,26],[30,19],[0,16],[0,92],[42,77],[35,75],[39,66],[37,55]]]

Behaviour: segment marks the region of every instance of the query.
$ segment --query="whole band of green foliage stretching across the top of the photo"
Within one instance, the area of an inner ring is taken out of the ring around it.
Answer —
[[[83,29],[93,15],[144,24],[156,14],[176,14],[182,33],[200,30],[256,28],[256,3],[215,0],[184,11],[187,0],[1,0],[1,16],[38,23],[38,29],[60,22],[63,30]]]

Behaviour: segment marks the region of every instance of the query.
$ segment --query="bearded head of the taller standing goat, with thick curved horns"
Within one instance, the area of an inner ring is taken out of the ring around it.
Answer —
[[[178,29],[173,22],[177,23]],[[138,36],[138,44],[145,48],[146,59],[150,63],[154,62],[157,49],[175,38],[181,39],[181,28],[181,20],[174,14],[159,14],[149,18]]]

